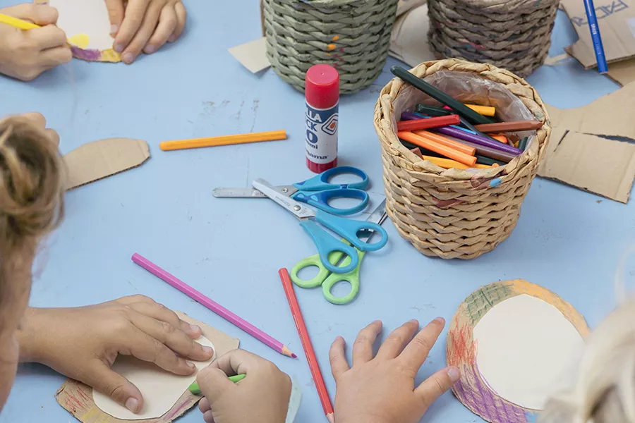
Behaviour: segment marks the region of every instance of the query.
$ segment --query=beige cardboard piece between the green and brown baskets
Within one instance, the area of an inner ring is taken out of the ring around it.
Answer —
[[[388,54],[413,67],[425,61],[435,60],[435,54],[428,42],[429,29],[428,4],[409,9],[394,23]]]

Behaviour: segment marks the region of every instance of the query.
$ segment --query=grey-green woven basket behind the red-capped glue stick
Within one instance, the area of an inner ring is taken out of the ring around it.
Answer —
[[[264,0],[267,57],[300,91],[317,63],[339,71],[340,92],[363,90],[382,73],[396,12],[397,0]]]

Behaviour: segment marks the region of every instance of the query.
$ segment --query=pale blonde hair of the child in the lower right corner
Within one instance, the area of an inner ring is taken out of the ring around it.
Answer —
[[[548,403],[542,423],[635,423],[635,300],[627,298],[620,260],[615,288],[621,304],[589,336],[574,388]]]

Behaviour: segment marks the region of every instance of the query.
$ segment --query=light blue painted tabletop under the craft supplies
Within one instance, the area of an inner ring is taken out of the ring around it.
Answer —
[[[13,3],[14,0],[2,3]],[[242,348],[272,360],[301,381],[297,422],[322,422],[322,408],[277,270],[315,254],[298,221],[265,200],[219,200],[212,189],[246,186],[254,178],[283,184],[311,176],[304,159],[304,98],[273,71],[253,75],[227,51],[260,37],[258,2],[189,1],[182,39],[133,66],[73,61],[30,83],[0,78],[0,116],[40,111],[61,135],[61,150],[108,137],[147,140],[143,166],[67,195],[66,220],[37,262],[31,305],[73,307],[145,294],[236,336]],[[560,12],[550,55],[573,43]],[[382,199],[380,145],[373,128],[377,93],[388,67],[367,90],[343,97],[339,159],[371,178]],[[545,102],[588,104],[618,86],[573,59],[543,66],[528,78]],[[159,142],[285,129],[281,142],[162,152]],[[537,178],[512,236],[471,261],[430,259],[385,223],[390,242],[368,255],[358,298],[331,305],[319,290],[296,290],[332,398],[328,350],[335,336],[352,344],[381,319],[387,333],[408,319],[449,321],[468,294],[485,284],[525,278],[571,302],[595,327],[615,307],[617,261],[635,240],[635,204],[620,204]],[[291,360],[265,347],[131,262],[139,252],[282,341]],[[423,380],[445,365],[445,335],[421,368]],[[349,350],[350,353],[350,350]],[[63,422],[70,415],[54,394],[64,377],[37,364],[20,366],[1,423]],[[180,422],[202,422],[198,410]],[[451,393],[423,422],[481,422]]]

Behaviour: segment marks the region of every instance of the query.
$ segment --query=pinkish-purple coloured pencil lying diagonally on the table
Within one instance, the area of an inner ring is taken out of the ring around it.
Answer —
[[[236,314],[230,312],[228,309],[226,309],[222,305],[219,305],[217,302],[212,301],[207,296],[198,292],[198,290],[195,290],[194,288],[189,286],[187,283],[176,278],[176,276],[173,276],[169,274],[167,271],[164,271],[159,266],[150,262],[150,260],[146,259],[145,257],[138,255],[135,252],[135,254],[133,254],[132,260],[139,266],[143,267],[143,269],[157,276],[157,278],[163,279],[163,281],[169,283],[174,288],[180,290],[189,298],[192,298],[193,300],[200,302],[200,304],[212,310],[212,312],[218,314],[220,317],[222,317],[226,321],[229,321],[229,323],[238,326],[238,328],[242,329],[243,331],[246,331],[251,336],[258,339],[258,341],[264,343],[270,348],[273,348],[278,353],[286,355],[287,357],[293,357],[293,358],[298,357],[294,353],[291,353],[291,350],[289,350],[289,348],[286,348],[286,345],[284,345],[282,342],[277,341],[276,339],[267,335],[267,333],[253,326],[253,324],[250,324],[248,321],[246,321],[242,317],[238,317]]]

